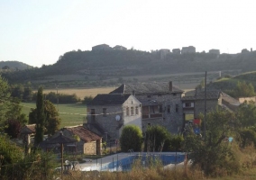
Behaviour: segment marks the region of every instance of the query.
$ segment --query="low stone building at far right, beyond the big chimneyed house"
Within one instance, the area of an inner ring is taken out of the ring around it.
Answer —
[[[222,91],[206,91],[206,112],[215,111],[217,107],[234,111],[239,105],[239,101]],[[185,121],[197,119],[199,113],[205,112],[205,91],[195,91],[194,95],[183,96],[182,107]]]

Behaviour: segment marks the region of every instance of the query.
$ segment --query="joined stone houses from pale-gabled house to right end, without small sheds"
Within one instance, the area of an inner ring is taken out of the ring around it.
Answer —
[[[221,91],[207,91],[206,112],[217,106],[234,110],[240,104]],[[205,111],[205,92],[184,94],[172,82],[123,84],[109,94],[98,94],[87,105],[87,129],[104,139],[119,139],[123,127],[133,124],[145,132],[161,125],[172,134],[182,133],[187,121]]]

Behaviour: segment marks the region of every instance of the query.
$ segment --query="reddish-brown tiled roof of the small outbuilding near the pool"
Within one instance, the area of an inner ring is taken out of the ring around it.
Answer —
[[[75,126],[75,127],[66,127],[64,130],[69,130],[74,135],[77,135],[81,140],[85,142],[94,141],[97,139],[101,139],[96,133],[88,130],[84,126]]]

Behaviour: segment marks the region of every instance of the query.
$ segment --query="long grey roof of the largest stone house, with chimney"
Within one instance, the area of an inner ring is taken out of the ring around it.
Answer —
[[[183,91],[175,85],[172,85],[172,91],[169,91],[169,82],[157,82],[123,84],[110,92],[110,94],[133,94],[133,91],[135,94],[183,93]]]

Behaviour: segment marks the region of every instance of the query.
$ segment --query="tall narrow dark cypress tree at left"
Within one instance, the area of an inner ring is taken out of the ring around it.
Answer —
[[[44,101],[42,94],[42,87],[38,89],[36,100],[36,126],[35,126],[35,145],[43,140],[44,128],[45,128],[45,113],[44,113]]]

